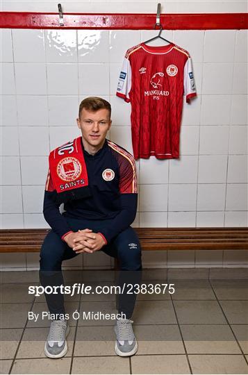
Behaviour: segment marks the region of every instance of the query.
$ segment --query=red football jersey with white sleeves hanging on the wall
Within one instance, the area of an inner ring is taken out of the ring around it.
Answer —
[[[126,51],[117,96],[131,102],[133,156],[179,158],[183,94],[195,97],[190,54],[174,43]]]

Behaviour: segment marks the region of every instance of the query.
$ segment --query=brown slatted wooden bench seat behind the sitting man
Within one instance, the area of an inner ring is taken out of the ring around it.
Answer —
[[[135,228],[146,250],[247,250],[248,228]],[[1,253],[38,252],[49,229],[1,229]]]

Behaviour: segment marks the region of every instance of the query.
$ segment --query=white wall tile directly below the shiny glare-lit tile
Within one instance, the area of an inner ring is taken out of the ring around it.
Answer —
[[[78,94],[78,66],[76,64],[47,64],[49,95]]]

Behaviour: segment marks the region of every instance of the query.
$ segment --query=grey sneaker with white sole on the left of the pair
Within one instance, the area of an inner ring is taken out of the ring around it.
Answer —
[[[51,322],[49,335],[44,344],[44,353],[49,358],[61,358],[67,353],[66,337],[69,334],[69,325],[64,319]]]

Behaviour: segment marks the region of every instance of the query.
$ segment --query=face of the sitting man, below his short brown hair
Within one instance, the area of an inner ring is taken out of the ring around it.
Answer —
[[[80,118],[76,119],[78,128],[81,129],[84,147],[101,148],[104,144],[106,134],[110,129],[112,121],[109,111],[100,109],[92,112],[83,108]]]

